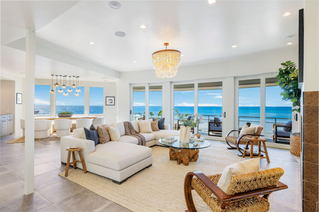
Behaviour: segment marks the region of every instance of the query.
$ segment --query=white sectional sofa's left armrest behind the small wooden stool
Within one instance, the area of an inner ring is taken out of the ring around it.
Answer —
[[[72,135],[61,137],[60,148],[61,148],[61,162],[66,163],[68,159],[68,151],[66,147],[78,146],[82,148],[82,155],[84,162],[87,162],[87,155],[95,151],[95,145],[93,140],[86,140],[82,138],[76,138]],[[76,153],[76,159],[80,159],[78,153]],[[71,160],[72,162],[72,157]]]

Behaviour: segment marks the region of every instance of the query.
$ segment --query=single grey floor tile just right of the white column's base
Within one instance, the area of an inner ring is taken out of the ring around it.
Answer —
[[[74,195],[85,188],[71,182],[69,180],[63,180],[52,185],[37,190],[39,194],[44,196],[52,204],[60,202],[61,200]]]

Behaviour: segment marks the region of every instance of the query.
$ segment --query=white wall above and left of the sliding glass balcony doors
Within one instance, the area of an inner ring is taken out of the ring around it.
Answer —
[[[214,79],[222,77],[247,76],[264,73],[278,72],[280,63],[291,60],[298,64],[298,46],[286,46],[283,49],[264,51],[252,55],[243,56],[230,61],[223,61],[210,64],[182,66],[178,69],[177,76],[170,79],[159,79],[155,76],[154,70],[142,70],[133,72],[121,72],[118,81],[118,121],[130,119],[130,84],[132,83],[155,83],[165,82],[163,95],[169,95],[167,83],[172,81],[194,80],[194,79]],[[151,63],[151,59],[150,59]],[[226,83],[233,82],[233,79],[226,80]],[[225,85],[227,87],[227,85]],[[232,85],[233,86],[233,85]],[[234,88],[233,88],[234,89]],[[231,91],[229,91],[231,92]],[[233,91],[234,92],[234,91]],[[232,97],[233,98],[233,97]],[[163,102],[163,115],[170,116],[164,108],[171,110],[168,97]],[[232,102],[234,100],[231,100]],[[170,112],[168,112],[170,113]],[[169,124],[170,120],[165,120]]]

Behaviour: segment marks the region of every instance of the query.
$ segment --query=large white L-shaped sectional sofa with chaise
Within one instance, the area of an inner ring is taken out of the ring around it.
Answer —
[[[139,133],[138,121],[131,122]],[[87,171],[107,177],[121,184],[138,171],[152,166],[152,147],[161,145],[158,140],[166,136],[179,136],[179,131],[170,130],[170,125],[164,125],[164,130],[152,133],[140,133],[145,137],[146,146],[140,146],[137,138],[125,135],[124,123],[116,123],[120,139],[94,146],[93,140],[86,140],[84,130],[73,130],[73,135],[61,137],[61,163],[66,164],[68,152],[66,147],[81,147]],[[97,126],[95,126],[97,127]],[[162,145],[161,145],[162,146]],[[76,159],[79,160],[78,153]],[[70,160],[72,162],[72,160]],[[81,163],[77,167],[83,168]]]

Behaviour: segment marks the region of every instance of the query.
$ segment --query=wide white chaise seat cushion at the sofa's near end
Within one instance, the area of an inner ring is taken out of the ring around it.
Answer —
[[[97,144],[95,152],[87,155],[87,162],[119,171],[151,155],[150,147],[109,141],[106,144]]]

